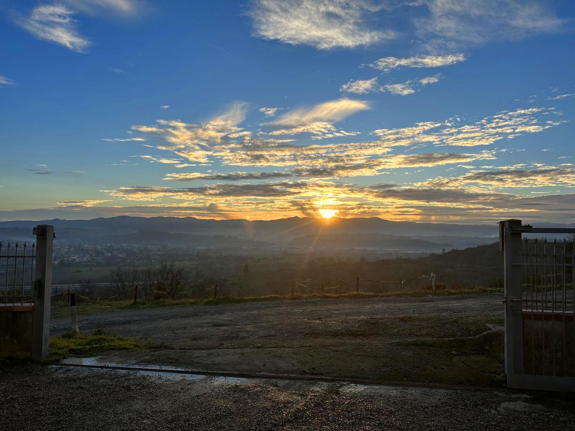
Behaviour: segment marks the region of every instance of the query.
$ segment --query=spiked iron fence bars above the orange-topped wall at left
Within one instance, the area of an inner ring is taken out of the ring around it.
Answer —
[[[36,263],[36,244],[27,243],[6,245],[0,241],[0,280],[3,280],[3,303],[32,303],[34,286],[34,264]],[[1,286],[1,285],[0,285]]]

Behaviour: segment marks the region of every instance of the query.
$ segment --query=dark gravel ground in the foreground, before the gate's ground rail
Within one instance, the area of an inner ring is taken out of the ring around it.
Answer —
[[[573,395],[0,368],[6,430],[566,430]]]

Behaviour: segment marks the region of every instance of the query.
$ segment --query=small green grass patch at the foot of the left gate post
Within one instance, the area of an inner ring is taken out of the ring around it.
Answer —
[[[120,337],[95,330],[91,334],[67,332],[50,338],[48,360],[56,361],[65,357],[97,356],[107,350],[140,350],[145,347],[136,337]]]

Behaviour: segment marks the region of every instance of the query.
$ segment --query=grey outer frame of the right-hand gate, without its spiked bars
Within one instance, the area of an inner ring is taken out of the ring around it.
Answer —
[[[523,302],[522,302],[522,233],[575,233],[570,228],[533,228],[521,220],[499,222],[499,249],[504,255],[505,293],[505,374],[507,386],[518,389],[575,391],[575,377],[524,374],[523,370]],[[575,317],[575,310],[573,311]],[[575,322],[575,320],[574,320]]]

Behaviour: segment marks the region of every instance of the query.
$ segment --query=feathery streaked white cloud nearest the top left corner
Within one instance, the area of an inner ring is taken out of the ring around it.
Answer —
[[[49,40],[76,52],[86,52],[91,42],[77,30],[74,11],[63,5],[39,5],[17,22],[38,39]]]

